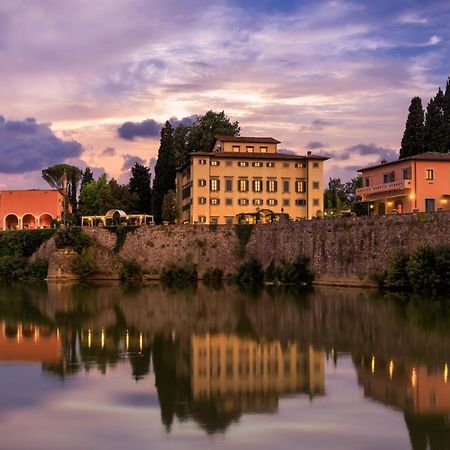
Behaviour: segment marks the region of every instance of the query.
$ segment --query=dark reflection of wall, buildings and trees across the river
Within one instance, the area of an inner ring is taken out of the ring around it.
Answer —
[[[364,397],[403,412],[413,449],[450,448],[449,333],[422,326],[420,306],[370,297],[3,286],[0,361],[62,380],[128,364],[136,382],[154,377],[168,432],[193,420],[213,434],[282,398],[326,401],[327,360],[350,354]]]

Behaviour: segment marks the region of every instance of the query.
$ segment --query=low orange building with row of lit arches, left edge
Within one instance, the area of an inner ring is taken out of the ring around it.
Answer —
[[[49,228],[62,210],[63,196],[55,190],[1,191],[0,229]]]

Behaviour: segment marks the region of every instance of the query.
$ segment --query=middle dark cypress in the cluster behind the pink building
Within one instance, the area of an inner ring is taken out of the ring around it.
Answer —
[[[424,151],[446,152],[447,132],[444,121],[444,93],[439,88],[427,106],[424,131]]]

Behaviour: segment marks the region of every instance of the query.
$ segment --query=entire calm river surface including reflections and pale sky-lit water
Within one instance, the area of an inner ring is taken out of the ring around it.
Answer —
[[[316,289],[0,287],[0,448],[450,449],[450,313]]]

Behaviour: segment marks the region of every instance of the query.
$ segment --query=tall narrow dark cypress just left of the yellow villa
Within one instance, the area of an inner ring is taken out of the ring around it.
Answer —
[[[175,190],[175,149],[173,128],[169,121],[161,129],[161,141],[158,160],[155,166],[155,182],[153,183],[153,215],[156,223],[162,221],[162,203],[164,195]]]

